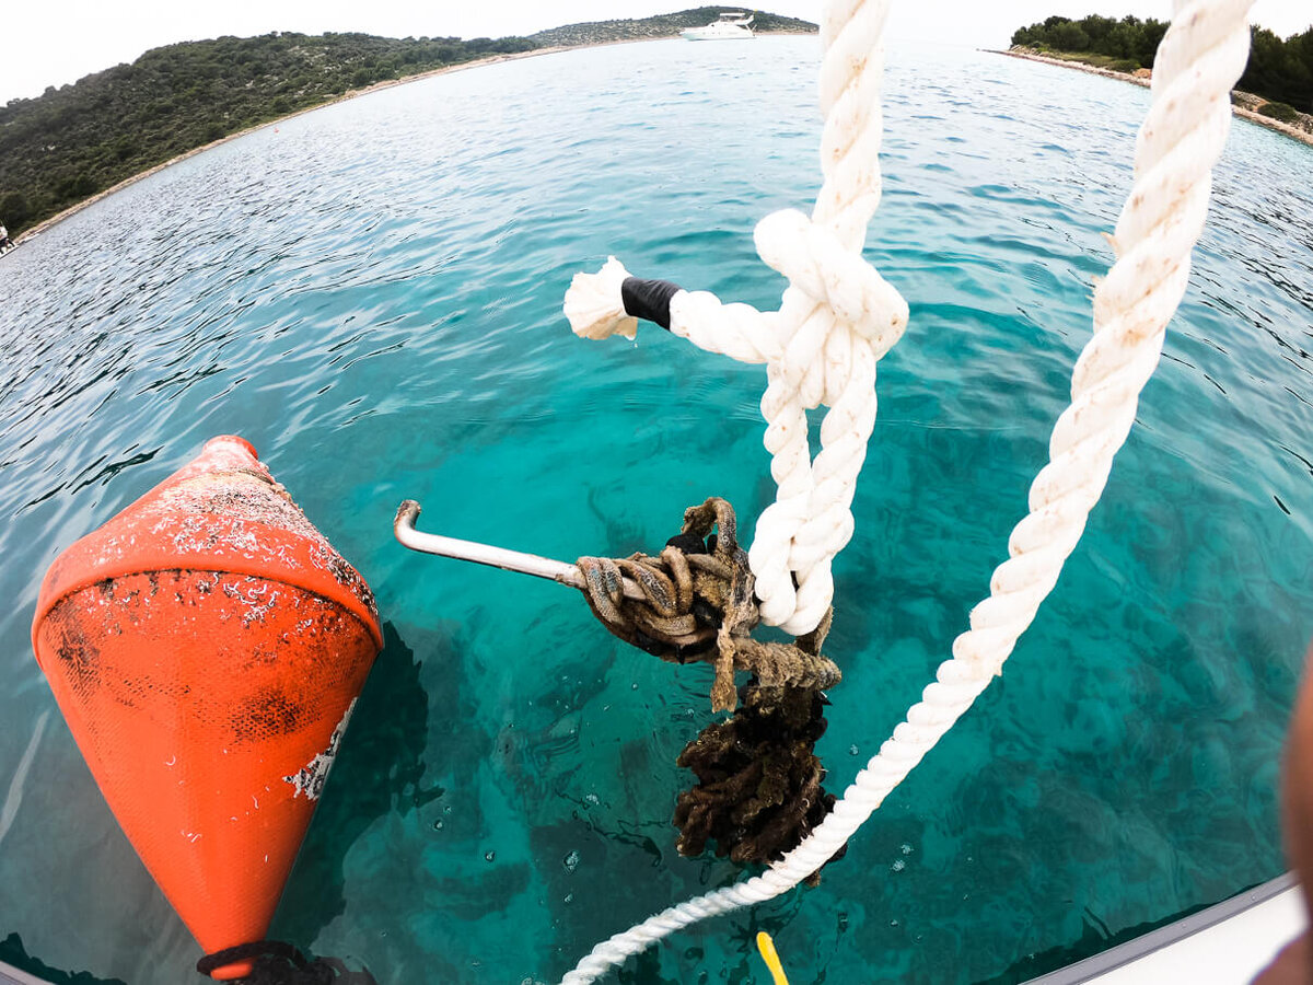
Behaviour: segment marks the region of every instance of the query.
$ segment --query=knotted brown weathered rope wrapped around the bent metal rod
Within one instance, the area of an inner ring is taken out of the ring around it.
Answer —
[[[579,558],[588,607],[613,636],[654,657],[712,663],[717,712],[738,705],[735,670],[752,671],[764,687],[832,687],[839,668],[821,655],[829,619],[793,644],[750,636],[760,615],[737,527],[734,507],[712,496],[684,511],[683,529],[659,556]]]

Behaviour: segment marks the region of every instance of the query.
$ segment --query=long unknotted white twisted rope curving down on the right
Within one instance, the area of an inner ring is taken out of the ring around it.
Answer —
[[[597,944],[562,985],[591,982],[675,930],[797,885],[856,833],[1001,672],[1103,494],[1184,294],[1211,169],[1230,126],[1230,88],[1249,55],[1250,4],[1175,4],[1154,64],[1153,106],[1136,142],[1134,185],[1112,236],[1117,261],[1095,290],[1095,334],[1071,376],[1071,406],[1053,428],[1049,464],[1031,486],[1031,512],[1012,531],[1010,558],[994,571],[990,595],[972,611],[952,659],[797,848],[760,876],[672,906]]]

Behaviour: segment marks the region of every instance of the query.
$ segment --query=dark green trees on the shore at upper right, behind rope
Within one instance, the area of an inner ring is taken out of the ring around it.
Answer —
[[[1079,21],[1049,17],[1012,35],[1014,45],[1074,55],[1092,55],[1117,71],[1153,68],[1158,42],[1167,25],[1152,17],[1112,17],[1091,14]],[[1266,28],[1251,29],[1249,66],[1237,88],[1264,100],[1289,104],[1313,113],[1313,28],[1281,41]],[[1102,56],[1102,60],[1100,58]]]

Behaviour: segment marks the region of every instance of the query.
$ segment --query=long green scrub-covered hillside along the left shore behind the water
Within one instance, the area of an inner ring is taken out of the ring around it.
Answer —
[[[0,222],[17,235],[179,154],[348,89],[492,54],[674,35],[716,20],[720,9],[576,24],[528,38],[274,33],[152,49],[131,64],[0,108]],[[758,13],[755,26],[815,30],[768,13]]]

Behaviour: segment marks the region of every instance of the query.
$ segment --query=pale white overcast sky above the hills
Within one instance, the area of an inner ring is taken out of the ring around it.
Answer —
[[[579,21],[647,17],[704,0],[35,0],[0,14],[0,104],[39,96],[147,49],[221,34],[365,32],[404,38],[530,34]],[[760,0],[759,0],[760,3]],[[731,5],[733,9],[733,5]],[[762,9],[819,20],[821,0],[767,0]],[[1060,13],[1167,20],[1170,0],[901,0],[889,37],[1003,47],[1016,28]],[[1283,38],[1313,22],[1313,0],[1258,0],[1253,20]]]

